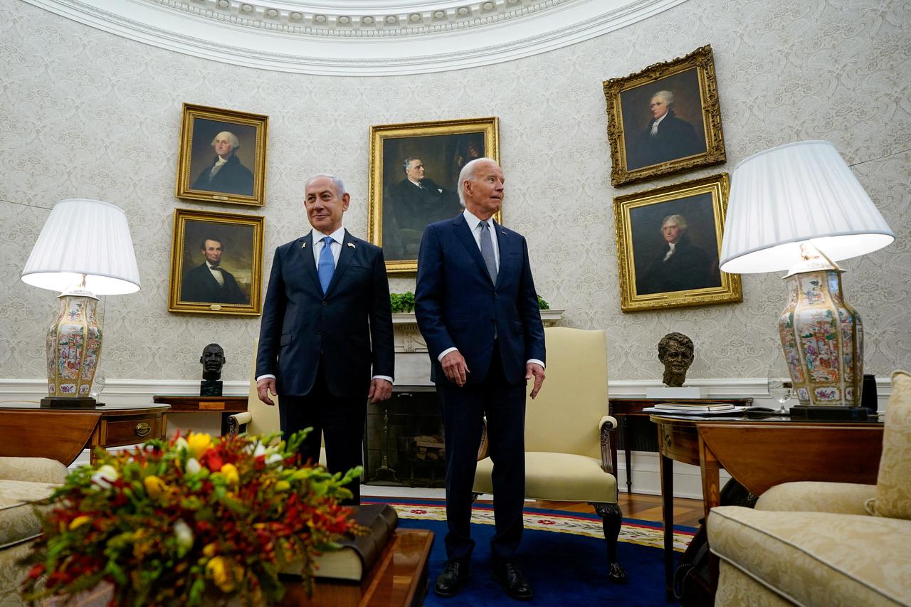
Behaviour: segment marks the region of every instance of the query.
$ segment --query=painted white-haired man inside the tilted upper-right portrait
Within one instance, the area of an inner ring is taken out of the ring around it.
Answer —
[[[660,90],[652,96],[649,108],[651,120],[636,142],[636,149],[627,159],[629,169],[640,169],[669,160],[700,154],[705,151],[705,139],[697,137],[696,129],[674,113],[674,94]]]

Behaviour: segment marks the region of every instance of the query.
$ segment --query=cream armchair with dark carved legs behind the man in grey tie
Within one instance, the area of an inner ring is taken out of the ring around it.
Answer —
[[[527,399],[525,497],[591,503],[604,521],[608,578],[623,583],[626,574],[617,562],[622,514],[609,447],[617,420],[606,415],[607,338],[604,331],[566,327],[548,327],[544,334],[547,380],[537,398]],[[476,494],[493,492],[492,471],[490,458],[477,462]]]

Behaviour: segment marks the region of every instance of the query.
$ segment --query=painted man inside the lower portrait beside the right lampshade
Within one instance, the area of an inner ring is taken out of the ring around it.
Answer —
[[[689,291],[722,285],[721,274],[711,257],[690,242],[689,229],[682,215],[668,215],[661,221],[665,245],[636,281],[636,293]]]

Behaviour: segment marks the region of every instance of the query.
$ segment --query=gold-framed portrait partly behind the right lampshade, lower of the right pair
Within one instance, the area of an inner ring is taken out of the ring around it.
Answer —
[[[729,190],[719,173],[614,199],[623,312],[743,301],[718,268]]]

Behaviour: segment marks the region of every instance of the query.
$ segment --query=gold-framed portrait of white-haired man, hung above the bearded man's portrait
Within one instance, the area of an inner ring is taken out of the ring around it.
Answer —
[[[183,104],[177,197],[262,206],[269,117]]]

